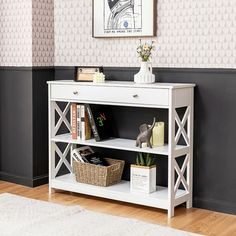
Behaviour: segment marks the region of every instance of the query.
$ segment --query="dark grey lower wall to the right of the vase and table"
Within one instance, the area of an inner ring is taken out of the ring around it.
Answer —
[[[160,82],[196,83],[194,203],[236,213],[236,71],[160,70]]]

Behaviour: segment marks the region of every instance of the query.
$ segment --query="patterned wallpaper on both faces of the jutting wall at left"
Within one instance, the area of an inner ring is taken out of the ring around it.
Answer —
[[[0,66],[53,66],[53,0],[0,0]]]

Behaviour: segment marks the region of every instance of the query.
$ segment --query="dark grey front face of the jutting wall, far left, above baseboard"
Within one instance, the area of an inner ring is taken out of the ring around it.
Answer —
[[[0,70],[0,175],[32,178],[32,72]]]

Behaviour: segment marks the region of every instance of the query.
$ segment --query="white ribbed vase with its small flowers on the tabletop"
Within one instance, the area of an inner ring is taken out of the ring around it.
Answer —
[[[152,63],[150,62],[152,50],[155,50],[154,41],[142,43],[140,39],[137,53],[142,61],[139,72],[134,75],[134,82],[137,84],[151,84],[155,82],[155,75],[152,74]]]

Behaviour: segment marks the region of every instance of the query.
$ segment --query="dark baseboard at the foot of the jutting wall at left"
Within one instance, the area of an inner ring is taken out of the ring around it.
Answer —
[[[24,185],[30,188],[48,183],[48,175],[42,175],[32,178],[0,172],[0,180],[15,184]]]

